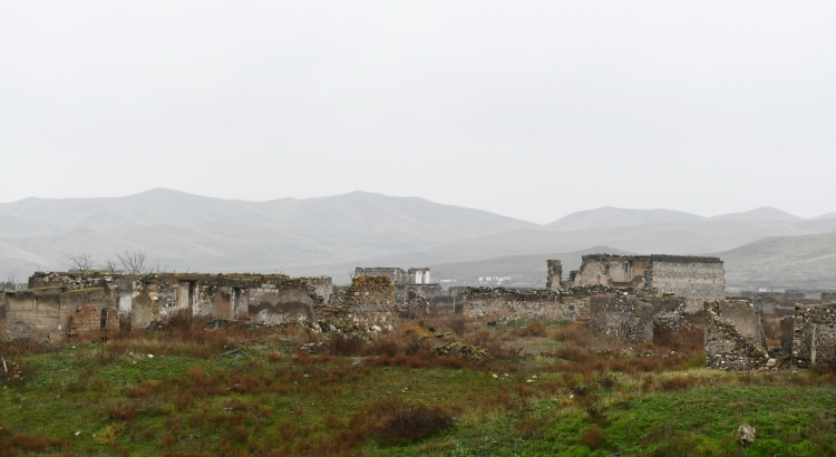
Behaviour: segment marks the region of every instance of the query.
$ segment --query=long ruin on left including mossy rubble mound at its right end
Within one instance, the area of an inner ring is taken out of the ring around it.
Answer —
[[[328,276],[36,273],[30,288],[4,294],[7,339],[106,338],[120,320],[143,330],[178,314],[370,334],[391,328],[397,312],[387,278],[361,276],[336,293]]]

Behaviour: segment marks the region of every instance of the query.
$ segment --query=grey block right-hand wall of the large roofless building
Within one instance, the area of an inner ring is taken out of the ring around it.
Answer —
[[[689,312],[694,312],[703,301],[726,296],[726,270],[717,257],[652,255],[644,284],[686,299]]]

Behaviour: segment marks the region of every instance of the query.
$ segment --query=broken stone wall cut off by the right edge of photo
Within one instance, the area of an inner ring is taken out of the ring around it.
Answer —
[[[797,304],[793,366],[836,368],[836,302]]]

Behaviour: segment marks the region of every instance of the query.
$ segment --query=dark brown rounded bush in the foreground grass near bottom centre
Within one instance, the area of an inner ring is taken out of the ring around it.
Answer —
[[[387,445],[406,444],[430,437],[453,426],[453,417],[440,408],[396,405],[378,430]]]

